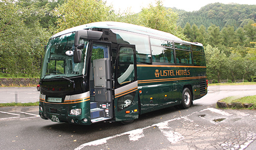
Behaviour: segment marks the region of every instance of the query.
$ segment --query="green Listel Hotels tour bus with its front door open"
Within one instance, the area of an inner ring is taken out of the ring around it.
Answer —
[[[166,107],[188,109],[207,93],[203,45],[120,22],[52,36],[45,46],[39,114],[90,125],[124,124]]]

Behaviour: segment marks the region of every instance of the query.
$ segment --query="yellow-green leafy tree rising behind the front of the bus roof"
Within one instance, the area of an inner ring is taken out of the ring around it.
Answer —
[[[55,10],[57,31],[99,21],[114,20],[111,6],[102,0],[67,0]]]

